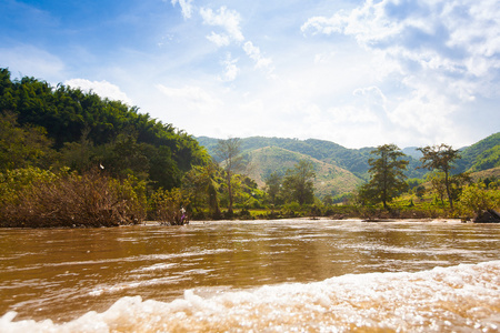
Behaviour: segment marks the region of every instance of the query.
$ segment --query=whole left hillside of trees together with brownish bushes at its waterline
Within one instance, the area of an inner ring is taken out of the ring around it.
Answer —
[[[202,201],[208,169],[214,199]],[[194,138],[136,107],[0,69],[0,226],[177,224],[181,206],[218,205],[220,172]]]

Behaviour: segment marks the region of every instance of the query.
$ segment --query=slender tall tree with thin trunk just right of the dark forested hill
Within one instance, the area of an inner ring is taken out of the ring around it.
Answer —
[[[219,140],[216,147],[216,154],[221,160],[222,168],[226,171],[226,184],[228,186],[229,206],[228,211],[232,213],[233,193],[232,174],[243,169],[243,157],[241,155],[241,141],[239,138],[229,138]]]

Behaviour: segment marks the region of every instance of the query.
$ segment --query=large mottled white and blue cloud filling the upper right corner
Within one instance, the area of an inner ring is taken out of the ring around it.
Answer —
[[[476,81],[474,87],[461,83],[468,88],[458,93],[450,91],[466,101],[486,93],[488,85],[500,88],[500,6],[494,0],[368,0],[349,12],[310,18],[301,30],[351,36],[367,50],[399,61],[407,72],[416,67],[429,72],[443,87]]]

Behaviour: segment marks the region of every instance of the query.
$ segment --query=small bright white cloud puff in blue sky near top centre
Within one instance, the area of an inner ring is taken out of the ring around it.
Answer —
[[[226,6],[219,8],[217,12],[210,8],[201,8],[200,14],[204,24],[223,28],[229,38],[234,41],[244,40],[240,29],[241,17],[236,10],[228,9]]]

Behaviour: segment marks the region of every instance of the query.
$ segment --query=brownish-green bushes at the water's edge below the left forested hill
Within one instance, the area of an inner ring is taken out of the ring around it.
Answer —
[[[138,191],[144,184],[134,188],[99,171],[13,170],[2,174],[0,188],[2,226],[116,226],[144,218],[144,191]]]

